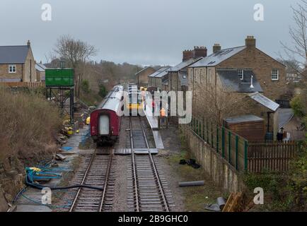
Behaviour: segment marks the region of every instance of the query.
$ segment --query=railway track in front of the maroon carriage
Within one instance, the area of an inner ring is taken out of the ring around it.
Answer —
[[[100,155],[96,149],[86,155],[83,167],[77,174],[76,184],[98,187],[98,189],[79,188],[69,212],[112,211],[115,186],[115,159],[112,150],[109,155]]]

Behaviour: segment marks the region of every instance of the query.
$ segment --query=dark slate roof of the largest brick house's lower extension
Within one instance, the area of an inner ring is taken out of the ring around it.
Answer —
[[[221,83],[225,88],[229,88],[238,93],[263,93],[260,83],[251,70],[244,70],[243,80],[238,77],[238,70],[236,69],[218,69],[216,72],[219,74]],[[254,88],[250,88],[251,76],[253,76]]]

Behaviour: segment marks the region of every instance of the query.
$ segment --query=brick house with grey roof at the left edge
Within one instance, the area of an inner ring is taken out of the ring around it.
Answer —
[[[27,45],[0,47],[0,82],[35,82],[37,73],[30,41]]]

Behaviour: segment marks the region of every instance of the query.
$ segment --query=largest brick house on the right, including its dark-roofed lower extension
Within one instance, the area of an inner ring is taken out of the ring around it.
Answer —
[[[206,98],[197,98],[197,92],[208,85],[231,90],[247,97],[247,107],[236,109],[236,113],[229,117],[254,114],[265,118],[267,131],[274,132],[275,137],[279,129],[278,107],[271,106],[276,104],[273,100],[279,99],[286,90],[284,64],[257,49],[253,36],[245,39],[244,46],[221,49],[219,44],[214,44],[212,50],[211,55],[188,68],[188,88],[193,92],[193,111],[195,107],[206,106]]]

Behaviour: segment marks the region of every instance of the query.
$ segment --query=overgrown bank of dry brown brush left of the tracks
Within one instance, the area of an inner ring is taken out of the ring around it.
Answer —
[[[25,166],[51,156],[61,126],[57,107],[42,95],[0,86],[0,211],[23,186]]]

